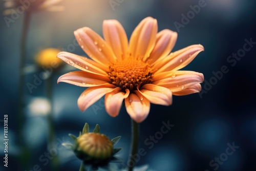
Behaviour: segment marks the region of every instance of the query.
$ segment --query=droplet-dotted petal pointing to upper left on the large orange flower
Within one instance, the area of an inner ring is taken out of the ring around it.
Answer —
[[[92,29],[83,27],[74,32],[76,40],[93,60],[108,66],[110,61],[115,61],[116,56],[109,45]]]

